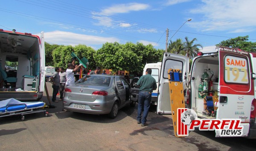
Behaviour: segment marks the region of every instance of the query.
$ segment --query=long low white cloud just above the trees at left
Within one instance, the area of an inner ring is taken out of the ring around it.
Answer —
[[[76,34],[73,32],[45,32],[44,33],[45,41],[50,44],[59,44],[59,45],[78,45],[84,44],[87,46],[90,45],[102,45],[106,42],[119,42],[118,38],[114,37],[99,37],[92,35],[82,35]]]

